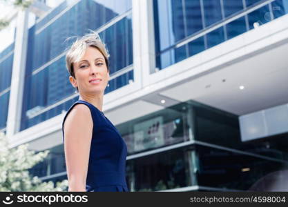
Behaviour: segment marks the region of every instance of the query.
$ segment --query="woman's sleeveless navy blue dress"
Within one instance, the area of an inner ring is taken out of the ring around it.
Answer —
[[[72,108],[79,103],[88,106],[93,119],[86,191],[128,192],[125,178],[127,146],[117,128],[102,111],[87,101],[76,101],[63,120],[63,142],[64,121]]]

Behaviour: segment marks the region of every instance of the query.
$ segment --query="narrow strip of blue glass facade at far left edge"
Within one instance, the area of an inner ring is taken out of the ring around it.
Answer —
[[[6,131],[13,57],[14,43],[0,53],[0,131],[3,132]]]

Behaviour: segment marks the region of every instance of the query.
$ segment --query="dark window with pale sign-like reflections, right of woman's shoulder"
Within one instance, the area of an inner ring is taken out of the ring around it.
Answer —
[[[116,126],[126,141],[128,154],[188,140],[188,107],[179,104]]]

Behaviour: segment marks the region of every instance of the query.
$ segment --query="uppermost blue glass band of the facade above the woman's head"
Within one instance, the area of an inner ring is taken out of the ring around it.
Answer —
[[[71,38],[65,41],[68,37],[82,36],[89,32],[88,29],[96,30],[117,17],[119,12],[126,12],[130,8],[131,0],[79,1],[55,21],[51,21],[52,23],[43,25],[40,21],[35,28],[30,28],[31,32],[29,32],[33,36],[33,39],[30,39],[33,43],[28,44],[28,53],[32,52],[33,56],[32,70],[36,70],[64,52],[75,40]]]

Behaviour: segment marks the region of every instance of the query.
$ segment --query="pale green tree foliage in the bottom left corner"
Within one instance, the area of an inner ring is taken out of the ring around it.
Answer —
[[[0,134],[0,191],[64,191],[68,181],[42,182],[39,177],[32,177],[29,169],[43,161],[49,151],[36,153],[28,150],[28,144],[9,148],[8,140]]]

